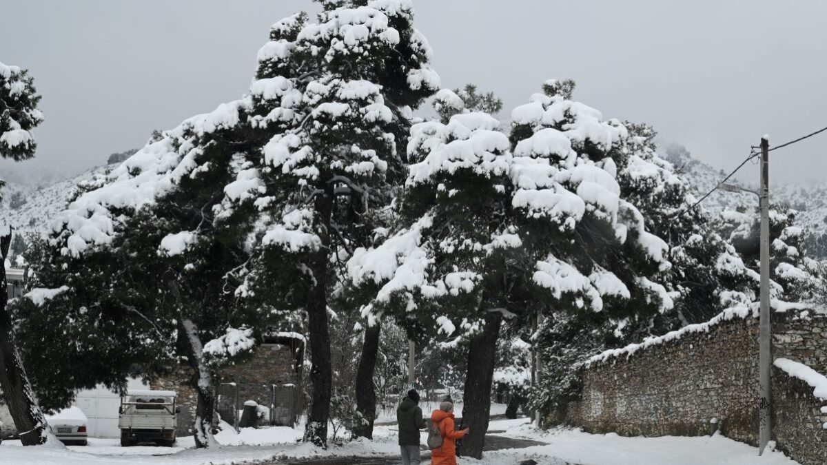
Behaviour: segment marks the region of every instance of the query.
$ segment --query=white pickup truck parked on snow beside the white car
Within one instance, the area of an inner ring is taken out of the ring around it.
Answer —
[[[137,443],[172,446],[180,408],[175,391],[130,390],[121,397],[117,427],[123,447]]]

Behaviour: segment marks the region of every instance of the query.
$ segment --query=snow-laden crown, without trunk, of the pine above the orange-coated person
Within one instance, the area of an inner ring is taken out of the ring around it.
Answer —
[[[463,108],[461,98],[446,89],[437,93],[437,105]],[[376,247],[357,249],[348,261],[354,285],[379,288],[363,313],[381,312],[394,301],[410,311],[450,295],[485,300],[493,292],[483,290],[485,282],[500,272],[495,261],[501,253],[510,257],[505,263],[528,260],[533,285],[573,308],[600,311],[606,298],[636,297],[661,312],[671,309],[673,295],[657,282],[672,266],[667,242],[648,232],[619,182],[681,182],[669,165],[643,151],[618,120],[605,120],[559,93],[533,95],[512,118],[511,143],[485,113],[457,113],[447,123],[412,128],[408,156],[414,164],[400,208],[411,209],[422,198],[433,203],[408,227]],[[483,213],[489,218],[474,217],[486,208],[492,209]],[[466,217],[474,224],[461,226]],[[609,236],[597,232],[600,237],[593,239],[639,253],[643,264],[588,250],[582,236],[599,224]],[[630,266],[640,269],[630,273]],[[445,314],[433,316],[443,332],[456,329]]]

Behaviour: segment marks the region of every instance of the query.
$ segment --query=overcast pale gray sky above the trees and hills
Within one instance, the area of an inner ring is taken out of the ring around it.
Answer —
[[[827,126],[827,2],[415,0],[445,86],[474,82],[504,114],[545,79],[577,81],[605,117],[653,124],[731,169]],[[0,61],[43,99],[26,165],[67,174],[246,92],[270,24],[310,0],[0,0]],[[775,179],[827,174],[827,133],[773,153]],[[754,170],[757,175],[757,168]]]

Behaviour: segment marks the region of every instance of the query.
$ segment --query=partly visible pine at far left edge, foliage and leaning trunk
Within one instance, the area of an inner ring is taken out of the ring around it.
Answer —
[[[40,99],[34,79],[26,70],[0,63],[0,158],[22,161],[35,155],[37,145],[30,131],[43,121],[43,113],[37,109]],[[0,189],[3,184],[0,179]],[[4,264],[11,242],[12,228],[0,220],[0,261]],[[7,309],[5,265],[0,273],[4,289],[0,292],[0,388],[15,427],[22,432],[23,445],[54,441],[15,347],[12,316]]]

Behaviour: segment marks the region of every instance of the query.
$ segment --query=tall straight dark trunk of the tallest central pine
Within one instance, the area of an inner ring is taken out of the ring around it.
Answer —
[[[309,293],[308,333],[310,336],[310,384],[313,399],[304,427],[304,441],[327,447],[327,421],[330,419],[332,368],[330,363],[330,331],[327,324],[327,276],[330,266],[330,218],[332,215],[332,188],[316,199],[317,231],[323,246],[313,254],[308,264],[313,272],[313,290]]]

